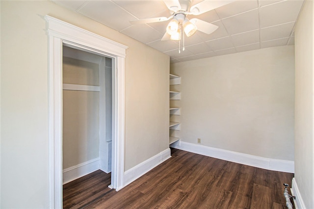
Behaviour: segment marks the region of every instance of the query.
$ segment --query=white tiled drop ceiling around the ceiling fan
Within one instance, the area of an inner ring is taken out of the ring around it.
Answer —
[[[169,21],[131,25],[129,21],[171,14],[162,0],[53,0],[86,17],[109,26],[181,62],[267,47],[293,45],[294,25],[304,0],[235,0],[193,16],[219,26],[211,34],[197,31],[178,41],[161,41]],[[194,0],[196,4],[202,0]],[[183,45],[181,41],[181,47]]]

